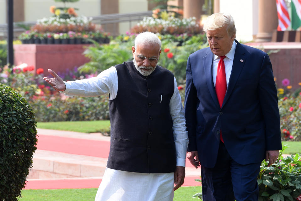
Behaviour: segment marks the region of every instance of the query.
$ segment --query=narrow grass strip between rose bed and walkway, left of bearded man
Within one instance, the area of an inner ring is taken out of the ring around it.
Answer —
[[[110,120],[38,122],[37,127],[61,131],[75,131],[82,133],[110,133]]]

